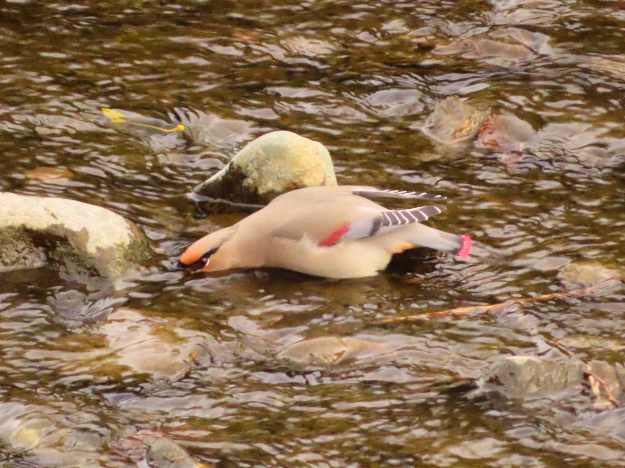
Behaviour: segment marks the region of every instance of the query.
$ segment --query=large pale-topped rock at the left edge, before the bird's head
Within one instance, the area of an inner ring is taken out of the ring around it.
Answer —
[[[0,271],[51,265],[72,278],[115,280],[152,255],[139,228],[105,208],[0,193]]]

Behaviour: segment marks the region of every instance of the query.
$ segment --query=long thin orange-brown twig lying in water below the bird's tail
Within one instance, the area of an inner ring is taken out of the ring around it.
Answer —
[[[621,276],[614,276],[613,278],[608,278],[607,280],[600,281],[596,285],[586,286],[586,288],[579,288],[577,290],[566,291],[564,293],[551,293],[551,294],[543,294],[541,296],[536,296],[533,298],[520,298],[520,299],[511,299],[506,302],[501,302],[497,304],[490,304],[486,306],[469,306],[469,307],[459,307],[455,309],[442,310],[438,312],[427,312],[424,314],[416,314],[416,315],[405,315],[401,317],[392,317],[385,318],[382,320],[377,320],[374,323],[390,323],[390,322],[402,322],[402,321],[411,321],[411,320],[427,320],[430,318],[437,317],[447,317],[451,315],[466,315],[472,313],[489,313],[496,311],[498,309],[506,308],[512,306],[514,304],[526,304],[532,302],[546,302],[552,301],[554,299],[564,299],[564,298],[578,298],[581,296],[586,296],[589,293],[592,293],[596,290],[604,288],[609,281],[623,281],[624,278]]]

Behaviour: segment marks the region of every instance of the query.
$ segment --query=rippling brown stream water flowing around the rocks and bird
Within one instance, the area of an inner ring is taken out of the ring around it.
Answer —
[[[564,291],[571,262],[622,268],[624,32],[614,1],[0,4],[0,190],[109,208],[164,254],[105,291],[0,273],[0,464],[146,467],[163,435],[224,467],[625,466],[625,417],[584,423],[601,414],[590,386],[547,404],[472,391],[504,356],[557,359],[546,340],[601,338],[617,346],[575,355],[624,361],[622,290],[524,305],[531,326],[375,323]],[[439,144],[421,127],[448,96],[531,136]],[[111,124],[102,107],[186,130]],[[341,184],[446,195],[434,225],[486,254],[341,281],[166,271],[244,215],[206,212],[192,187],[272,130],[324,144]],[[68,173],[46,182],[39,167]],[[279,355],[324,336],[385,351],[334,366]]]

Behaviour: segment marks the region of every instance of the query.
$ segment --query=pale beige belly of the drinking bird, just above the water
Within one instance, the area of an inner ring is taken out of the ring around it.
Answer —
[[[373,276],[391,261],[391,253],[366,242],[344,242],[319,247],[305,240],[279,239],[274,246],[280,255],[271,265],[326,278]]]

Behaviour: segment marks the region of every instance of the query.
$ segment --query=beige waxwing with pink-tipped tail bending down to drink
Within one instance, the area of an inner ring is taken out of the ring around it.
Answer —
[[[371,198],[445,197],[339,185],[284,193],[231,227],[194,242],[178,268],[217,271],[275,266],[327,278],[376,275],[394,253],[425,246],[466,257],[471,238],[421,224],[442,205],[388,210]]]

